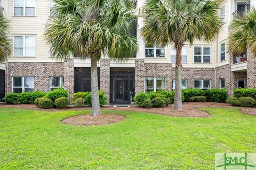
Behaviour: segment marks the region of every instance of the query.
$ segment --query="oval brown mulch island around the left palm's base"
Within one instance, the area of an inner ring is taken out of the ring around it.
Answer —
[[[121,122],[123,119],[125,119],[125,116],[117,114],[101,114],[100,116],[79,115],[63,119],[61,123],[70,125],[91,126],[113,124]]]

